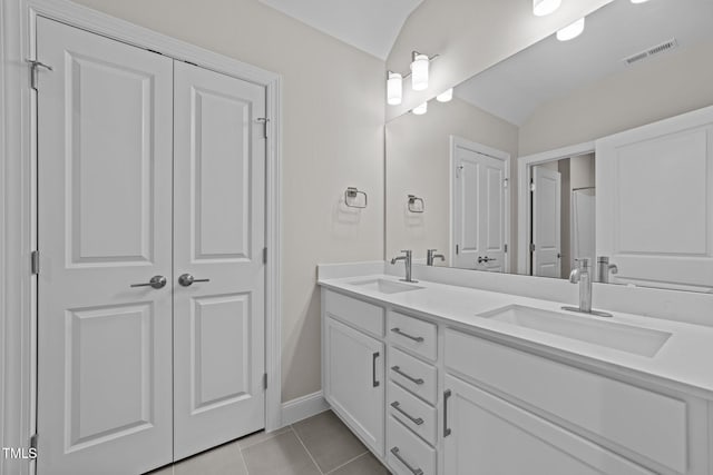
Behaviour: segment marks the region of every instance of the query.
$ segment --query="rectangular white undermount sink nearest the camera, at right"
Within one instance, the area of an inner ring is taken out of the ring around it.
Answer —
[[[521,305],[509,305],[479,316],[648,357],[656,355],[671,337],[671,334],[666,331],[600,321],[595,320],[596,317],[577,317]]]

